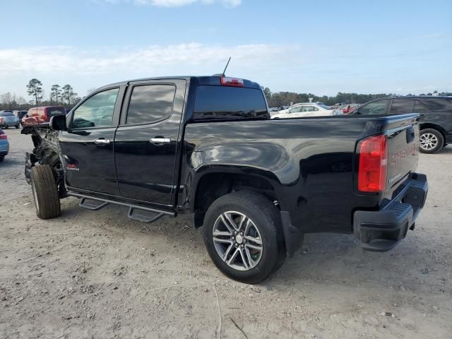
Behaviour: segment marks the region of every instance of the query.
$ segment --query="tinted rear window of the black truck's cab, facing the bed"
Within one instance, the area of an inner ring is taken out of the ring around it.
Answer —
[[[267,118],[267,103],[257,88],[199,85],[194,120]]]

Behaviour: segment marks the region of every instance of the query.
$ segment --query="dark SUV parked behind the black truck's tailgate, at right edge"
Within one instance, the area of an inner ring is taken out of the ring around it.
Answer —
[[[420,151],[436,153],[452,143],[452,97],[386,97],[367,102],[351,114],[420,114]]]

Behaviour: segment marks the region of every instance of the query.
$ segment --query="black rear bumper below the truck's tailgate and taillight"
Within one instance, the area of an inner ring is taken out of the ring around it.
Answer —
[[[394,192],[392,200],[383,201],[380,210],[357,210],[353,215],[353,230],[362,248],[367,251],[393,249],[409,229],[414,230],[427,191],[427,177],[413,173]]]

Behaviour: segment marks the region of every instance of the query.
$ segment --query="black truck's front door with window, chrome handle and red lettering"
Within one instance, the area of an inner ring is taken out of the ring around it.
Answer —
[[[119,195],[114,169],[114,133],[124,88],[101,90],[68,117],[59,137],[69,188]]]

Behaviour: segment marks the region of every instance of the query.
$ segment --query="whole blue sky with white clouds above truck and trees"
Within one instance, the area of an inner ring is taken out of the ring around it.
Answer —
[[[272,92],[452,91],[452,1],[2,0],[0,94],[221,73]]]

